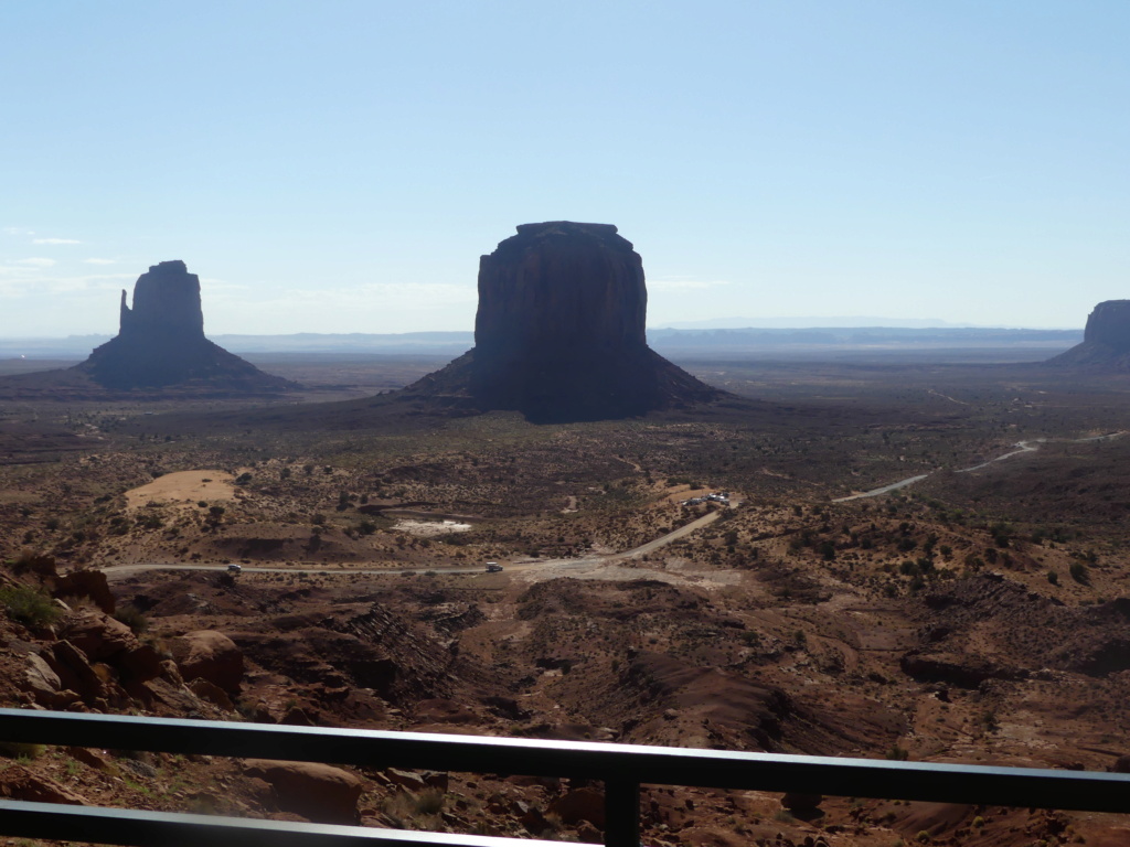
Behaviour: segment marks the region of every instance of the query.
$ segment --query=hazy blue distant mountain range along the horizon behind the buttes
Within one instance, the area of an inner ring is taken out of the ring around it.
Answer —
[[[939,322],[940,323],[940,322]],[[211,335],[234,353],[334,353],[458,356],[475,344],[471,332],[314,333]],[[62,339],[0,339],[0,358],[82,359],[108,335]],[[651,329],[647,342],[660,353],[713,355],[773,350],[846,349],[1046,349],[1049,355],[1083,341],[1078,330],[1005,330],[973,326],[812,326],[807,329]]]

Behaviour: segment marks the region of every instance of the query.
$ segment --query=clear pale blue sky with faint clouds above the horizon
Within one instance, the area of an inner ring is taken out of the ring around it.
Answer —
[[[649,326],[1078,328],[1130,298],[1124,0],[0,3],[0,337],[470,330],[518,224]]]

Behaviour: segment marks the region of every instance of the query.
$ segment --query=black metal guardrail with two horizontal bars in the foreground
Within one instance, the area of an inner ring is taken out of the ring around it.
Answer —
[[[637,744],[433,735],[0,709],[0,741],[605,783],[605,844],[640,844],[640,786],[1130,811],[1130,775]],[[529,847],[548,841],[0,801],[0,835],[118,845]]]

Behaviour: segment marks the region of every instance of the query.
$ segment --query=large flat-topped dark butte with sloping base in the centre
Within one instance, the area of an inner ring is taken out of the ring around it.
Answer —
[[[524,224],[479,261],[475,349],[409,394],[599,420],[716,400],[647,347],[643,262],[609,224]]]

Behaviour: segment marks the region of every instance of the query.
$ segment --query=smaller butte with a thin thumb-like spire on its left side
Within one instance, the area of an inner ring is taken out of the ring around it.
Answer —
[[[184,262],[160,262],[138,277],[133,308],[122,291],[121,328],[77,370],[116,390],[192,384],[218,390],[280,391],[287,381],[264,374],[205,338],[200,278]]]

